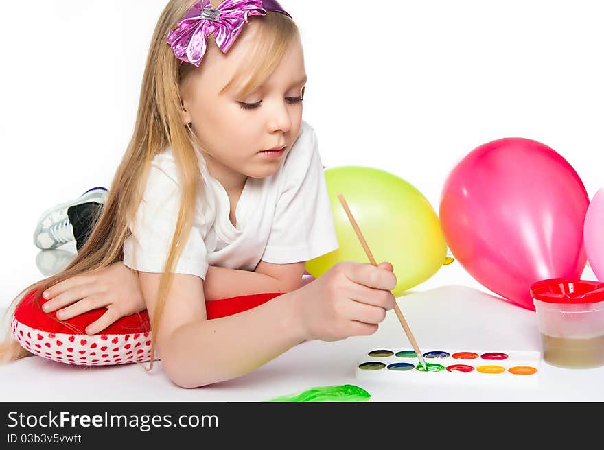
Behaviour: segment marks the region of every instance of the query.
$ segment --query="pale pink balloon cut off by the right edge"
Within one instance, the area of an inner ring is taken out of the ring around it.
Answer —
[[[598,281],[604,281],[604,189],[596,192],[588,212],[585,214],[585,252],[594,275]]]

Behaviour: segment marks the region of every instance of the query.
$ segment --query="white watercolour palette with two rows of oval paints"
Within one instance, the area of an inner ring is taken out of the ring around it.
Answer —
[[[510,384],[537,383],[541,352],[424,351],[428,371],[415,351],[406,348],[373,348],[356,367],[356,377],[396,383]]]

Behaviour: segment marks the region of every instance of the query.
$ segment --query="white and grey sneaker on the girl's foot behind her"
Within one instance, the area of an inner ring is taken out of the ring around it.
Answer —
[[[34,231],[34,245],[41,250],[50,250],[74,241],[73,225],[69,220],[67,210],[71,206],[84,203],[104,205],[107,195],[107,189],[104,187],[94,187],[71,202],[58,204],[45,211],[38,219]]]

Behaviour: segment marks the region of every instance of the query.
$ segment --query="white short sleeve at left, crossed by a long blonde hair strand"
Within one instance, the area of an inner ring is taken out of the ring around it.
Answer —
[[[124,243],[124,264],[140,272],[163,272],[178,220],[181,189],[176,166],[173,160],[163,156],[160,155],[159,162],[156,158],[152,163],[143,199],[130,224],[132,234]],[[205,278],[208,269],[206,234],[202,215],[196,213],[174,273]]]

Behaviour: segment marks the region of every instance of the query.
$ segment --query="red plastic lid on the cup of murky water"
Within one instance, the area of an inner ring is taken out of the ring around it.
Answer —
[[[604,283],[553,278],[531,286],[531,297],[546,303],[597,303],[604,301]]]

